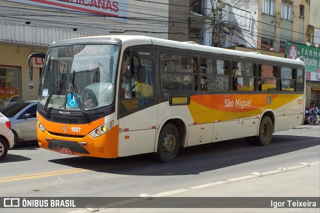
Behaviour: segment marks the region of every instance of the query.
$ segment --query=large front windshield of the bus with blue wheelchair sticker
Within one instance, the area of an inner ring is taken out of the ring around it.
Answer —
[[[49,48],[38,102],[44,108],[81,110],[114,100],[116,45],[74,45]]]

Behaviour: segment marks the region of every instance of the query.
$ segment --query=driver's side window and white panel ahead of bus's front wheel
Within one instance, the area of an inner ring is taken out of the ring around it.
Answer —
[[[118,156],[153,152],[157,124],[154,61],[124,57],[121,68]]]

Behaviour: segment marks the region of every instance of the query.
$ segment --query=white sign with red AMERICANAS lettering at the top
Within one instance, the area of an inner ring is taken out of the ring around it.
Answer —
[[[33,6],[79,11],[107,17],[127,17],[128,0],[8,0]]]

